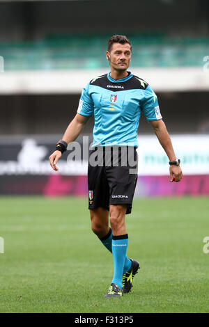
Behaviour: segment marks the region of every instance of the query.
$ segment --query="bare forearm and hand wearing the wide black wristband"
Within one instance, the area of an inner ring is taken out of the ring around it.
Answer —
[[[75,118],[73,118],[73,120],[70,122],[67,129],[65,130],[65,134],[63,135],[62,140],[65,141],[66,143],[75,141],[76,138],[81,133],[84,125],[86,124],[89,118],[90,118],[89,116],[84,116],[77,113],[75,115]],[[61,155],[62,155],[61,151],[55,150],[49,156],[50,165],[55,171],[59,170],[56,167],[56,163],[61,158]]]

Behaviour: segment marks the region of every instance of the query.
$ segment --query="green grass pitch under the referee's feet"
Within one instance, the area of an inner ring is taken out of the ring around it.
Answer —
[[[104,298],[111,254],[91,232],[87,200],[1,197],[0,312],[208,312],[208,198],[135,199],[130,294]]]

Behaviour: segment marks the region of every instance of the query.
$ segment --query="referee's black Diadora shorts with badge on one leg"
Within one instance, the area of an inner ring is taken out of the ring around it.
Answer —
[[[126,154],[125,154],[126,153]],[[136,147],[95,147],[88,160],[88,209],[109,205],[127,205],[132,211],[132,200],[137,184],[138,156]]]

